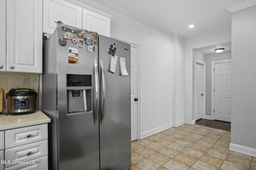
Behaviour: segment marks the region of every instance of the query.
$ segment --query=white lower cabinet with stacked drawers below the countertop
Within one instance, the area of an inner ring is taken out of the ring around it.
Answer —
[[[48,170],[47,124],[6,130],[4,144],[0,170]]]

